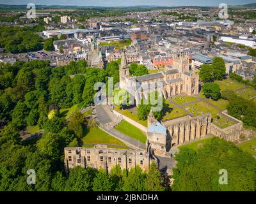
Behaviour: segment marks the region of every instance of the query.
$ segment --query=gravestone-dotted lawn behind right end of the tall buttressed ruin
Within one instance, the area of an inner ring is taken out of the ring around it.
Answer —
[[[214,108],[214,106],[211,106],[204,101],[185,106],[185,108],[188,108],[187,110],[195,116],[209,112],[212,114],[212,118],[215,118],[217,117],[217,113],[219,112],[219,110]]]

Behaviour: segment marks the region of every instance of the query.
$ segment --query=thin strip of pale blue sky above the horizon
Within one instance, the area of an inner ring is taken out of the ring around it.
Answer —
[[[256,3],[256,0],[0,0],[0,4],[28,4],[38,5],[79,5],[79,6],[218,6],[220,3],[228,5],[243,5]]]

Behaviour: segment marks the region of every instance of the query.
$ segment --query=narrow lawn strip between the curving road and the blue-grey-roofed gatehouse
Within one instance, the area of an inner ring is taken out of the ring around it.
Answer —
[[[136,140],[140,140],[140,142],[145,143],[147,141],[147,136],[141,131],[139,128],[132,126],[129,122],[122,120],[120,124],[115,126],[115,129],[124,133],[127,136],[131,136]]]

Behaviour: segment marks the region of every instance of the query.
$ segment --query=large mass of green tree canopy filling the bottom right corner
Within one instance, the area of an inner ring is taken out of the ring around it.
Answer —
[[[212,138],[198,152],[181,149],[175,155],[173,191],[255,191],[256,161],[232,142]],[[180,163],[180,164],[179,164]],[[220,170],[228,183],[221,185]]]

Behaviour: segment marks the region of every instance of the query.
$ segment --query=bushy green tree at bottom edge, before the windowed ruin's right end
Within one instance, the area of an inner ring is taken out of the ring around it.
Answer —
[[[147,174],[143,173],[140,166],[131,168],[128,177],[124,180],[124,191],[145,191],[145,182]]]

